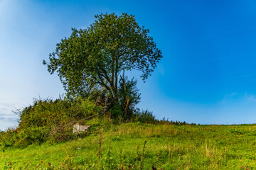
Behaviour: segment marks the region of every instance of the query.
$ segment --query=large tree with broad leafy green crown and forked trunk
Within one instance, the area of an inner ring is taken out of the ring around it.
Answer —
[[[161,59],[149,30],[140,27],[134,16],[122,13],[100,14],[87,29],[64,38],[49,56],[48,72],[58,72],[68,94],[84,95],[92,89],[105,89],[118,101],[118,82],[125,70],[142,72],[145,80]],[[125,82],[124,82],[125,84]]]

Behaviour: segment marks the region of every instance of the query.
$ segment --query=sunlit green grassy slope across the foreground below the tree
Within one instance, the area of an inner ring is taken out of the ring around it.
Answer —
[[[256,169],[256,125],[128,123],[109,125],[102,140],[100,161],[99,135],[92,134],[58,145],[6,149],[0,169],[151,169],[152,164],[157,169]]]

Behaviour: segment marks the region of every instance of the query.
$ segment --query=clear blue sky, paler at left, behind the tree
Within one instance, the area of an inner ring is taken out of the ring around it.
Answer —
[[[255,1],[0,0],[0,129],[33,98],[63,94],[43,60],[70,28],[97,13],[127,12],[149,28],[163,52],[139,108],[156,118],[201,124],[256,123]]]

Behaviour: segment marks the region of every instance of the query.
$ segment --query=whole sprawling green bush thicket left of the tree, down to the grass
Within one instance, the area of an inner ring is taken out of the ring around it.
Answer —
[[[73,124],[83,123],[83,119],[100,113],[101,107],[92,101],[77,98],[73,101],[35,100],[31,106],[23,108],[18,128],[0,132],[2,147],[26,147],[42,142],[64,142],[81,135],[72,133]]]

